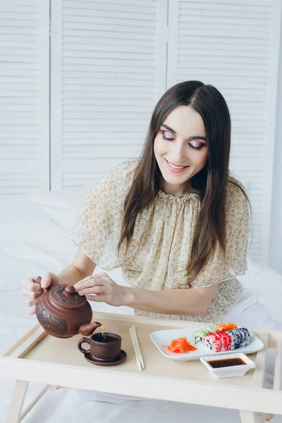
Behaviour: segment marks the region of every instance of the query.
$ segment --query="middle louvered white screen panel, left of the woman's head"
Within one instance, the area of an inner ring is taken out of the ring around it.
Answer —
[[[140,154],[165,91],[165,11],[166,0],[52,3],[52,190]]]

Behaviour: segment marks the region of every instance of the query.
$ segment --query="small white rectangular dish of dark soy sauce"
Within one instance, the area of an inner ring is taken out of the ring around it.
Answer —
[[[209,362],[212,362],[213,360],[229,360],[232,358],[238,358],[243,360],[246,364],[240,364],[235,366],[226,366],[226,367],[212,367]],[[244,376],[246,372],[250,369],[255,369],[256,364],[250,360],[250,358],[247,357],[244,353],[229,353],[229,354],[223,354],[223,355],[207,355],[204,357],[200,357],[200,360],[202,364],[204,364],[207,369],[209,369],[209,372],[212,372],[212,374],[218,378],[221,379],[223,377],[238,377],[238,376]]]

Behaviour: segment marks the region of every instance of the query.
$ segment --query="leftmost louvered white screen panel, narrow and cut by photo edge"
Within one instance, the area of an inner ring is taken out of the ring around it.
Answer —
[[[49,190],[49,1],[0,1],[0,194]]]

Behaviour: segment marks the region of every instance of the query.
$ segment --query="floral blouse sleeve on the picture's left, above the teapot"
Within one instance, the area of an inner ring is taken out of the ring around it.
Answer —
[[[107,271],[120,264],[116,253],[121,234],[123,204],[130,170],[130,159],[107,171],[85,197],[69,237],[94,263]]]

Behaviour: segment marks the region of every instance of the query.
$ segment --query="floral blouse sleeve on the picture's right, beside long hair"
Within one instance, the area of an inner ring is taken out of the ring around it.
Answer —
[[[243,190],[243,185],[236,180]],[[228,281],[247,271],[247,248],[249,235],[249,209],[247,198],[232,183],[228,183],[226,200],[226,259],[223,262],[219,246],[210,257],[200,274],[191,282],[195,288],[212,286]]]

